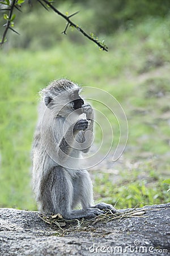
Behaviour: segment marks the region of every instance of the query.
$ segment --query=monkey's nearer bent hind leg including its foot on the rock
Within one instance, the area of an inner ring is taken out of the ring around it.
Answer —
[[[74,171],[74,170],[73,170]],[[61,166],[54,167],[44,183],[41,193],[41,210],[45,213],[60,213],[63,218],[93,218],[101,213],[100,209],[72,210],[73,205],[73,180],[69,173]],[[48,199],[48,201],[46,201]]]

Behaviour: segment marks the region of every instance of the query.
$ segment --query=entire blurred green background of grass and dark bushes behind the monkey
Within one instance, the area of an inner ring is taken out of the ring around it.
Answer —
[[[105,39],[108,53],[71,28],[61,35],[65,22],[41,6],[18,15],[20,36],[8,33],[0,58],[0,207],[36,209],[31,143],[37,92],[60,77],[111,93],[128,118],[120,162],[92,172],[95,199],[117,202],[117,208],[169,201],[168,181],[163,182],[170,169],[169,1],[112,2],[57,6],[69,14],[80,10],[73,20]]]

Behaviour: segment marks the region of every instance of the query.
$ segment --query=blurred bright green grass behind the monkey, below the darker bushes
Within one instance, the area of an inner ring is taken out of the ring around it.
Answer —
[[[1,207],[36,209],[31,191],[31,143],[37,92],[61,77],[106,90],[128,117],[129,140],[119,179],[114,182],[102,170],[102,179],[93,173],[95,199],[112,204],[120,199],[118,208],[169,201],[168,184],[162,182],[170,163],[169,25],[169,17],[150,18],[105,36],[108,53],[91,42],[76,44],[68,38],[45,50],[37,50],[36,43],[31,49],[1,50]],[[109,112],[105,114],[115,121]],[[127,161],[132,167],[127,167]],[[139,169],[145,173],[142,179]]]

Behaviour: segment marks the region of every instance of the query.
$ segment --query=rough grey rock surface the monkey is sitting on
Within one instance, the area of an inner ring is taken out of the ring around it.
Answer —
[[[170,204],[141,209],[146,210],[141,216],[100,220],[61,232],[37,212],[1,208],[0,255],[168,255]]]

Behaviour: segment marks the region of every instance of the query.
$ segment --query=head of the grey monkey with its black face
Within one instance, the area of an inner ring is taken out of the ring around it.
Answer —
[[[74,110],[81,109],[84,101],[79,96],[81,88],[70,80],[53,81],[42,89],[40,94],[45,105],[53,110],[55,115],[65,117]]]

